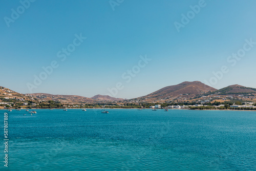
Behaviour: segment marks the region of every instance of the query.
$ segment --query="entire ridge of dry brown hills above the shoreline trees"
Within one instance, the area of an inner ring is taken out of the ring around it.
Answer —
[[[174,86],[164,87],[148,95],[141,96],[138,98],[133,98],[130,100],[136,100],[136,101],[144,100],[144,101],[158,102],[158,101],[164,101],[168,99],[169,100],[175,99],[175,100],[187,101],[187,100],[193,100],[201,97],[203,99],[205,98],[205,96],[212,95],[212,94],[221,95],[221,97],[219,97],[221,99],[225,98],[226,95],[244,95],[244,96],[256,97],[256,89],[234,84],[234,85],[217,90],[215,88],[207,86],[206,84],[200,81],[191,81],[191,82],[185,81]],[[242,97],[242,96],[239,96],[239,97]],[[20,94],[0,86],[0,102],[5,101],[5,99],[13,99],[13,98],[17,98],[17,99],[23,98],[27,100],[35,98],[41,101],[54,100],[54,101],[60,101],[62,103],[98,103],[99,101],[125,102],[125,100],[127,100],[127,99],[115,98],[108,95],[99,95],[99,94],[91,98],[77,96],[77,95],[52,95],[47,93]]]

